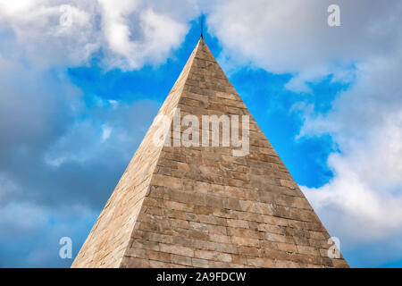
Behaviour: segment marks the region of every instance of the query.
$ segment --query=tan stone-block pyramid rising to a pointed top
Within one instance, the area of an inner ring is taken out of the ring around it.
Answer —
[[[72,267],[348,267],[329,239],[201,38]]]

